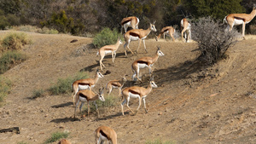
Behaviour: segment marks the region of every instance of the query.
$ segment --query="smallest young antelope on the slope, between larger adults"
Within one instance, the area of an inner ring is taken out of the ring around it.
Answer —
[[[112,81],[109,81],[107,86],[106,86],[106,89],[108,89],[108,95],[111,94],[113,89],[119,89],[119,96],[120,96],[121,95],[121,89],[123,88],[125,82],[126,82],[125,76],[123,78],[121,78],[121,80],[114,79]]]

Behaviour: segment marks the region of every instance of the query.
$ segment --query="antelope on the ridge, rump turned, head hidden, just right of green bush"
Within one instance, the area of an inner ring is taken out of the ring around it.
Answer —
[[[138,24],[139,24],[140,20],[136,17],[136,16],[130,16],[130,17],[126,17],[121,21],[121,26],[123,29],[125,29],[125,32],[127,32],[127,28],[131,27],[133,29],[138,29]],[[122,30],[121,30],[122,32]]]

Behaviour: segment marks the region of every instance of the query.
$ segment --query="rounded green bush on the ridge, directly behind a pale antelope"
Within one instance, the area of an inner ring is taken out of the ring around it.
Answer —
[[[116,29],[112,31],[110,28],[105,27],[101,32],[96,34],[92,43],[96,48],[102,48],[102,46],[116,43],[119,36],[120,34]]]

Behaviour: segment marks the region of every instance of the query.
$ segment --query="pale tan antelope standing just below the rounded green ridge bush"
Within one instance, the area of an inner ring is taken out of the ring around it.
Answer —
[[[99,54],[101,55],[101,58],[100,58],[101,70],[102,70],[102,66],[105,67],[102,63],[102,60],[103,60],[104,56],[111,53],[112,54],[112,62],[113,62],[113,60],[115,59],[115,56],[116,56],[116,51],[117,51],[117,49],[119,49],[120,44],[122,44],[122,41],[119,38],[118,41],[115,44],[105,45],[104,47],[99,49],[99,51],[97,52],[96,55],[99,55]]]

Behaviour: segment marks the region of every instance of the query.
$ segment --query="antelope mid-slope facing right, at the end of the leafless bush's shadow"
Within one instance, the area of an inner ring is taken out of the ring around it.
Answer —
[[[141,68],[145,68],[148,67],[149,69],[149,74],[151,75],[152,72],[152,66],[154,65],[154,63],[158,60],[159,56],[164,56],[164,53],[161,52],[160,47],[158,47],[158,49],[156,50],[156,53],[154,55],[154,57],[142,57],[138,60],[135,60],[132,64],[131,64],[131,70],[133,73],[132,75],[132,80],[135,81],[135,77],[137,77],[137,79],[142,82],[142,80],[139,78],[139,72]]]

